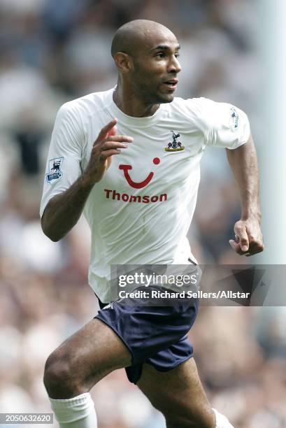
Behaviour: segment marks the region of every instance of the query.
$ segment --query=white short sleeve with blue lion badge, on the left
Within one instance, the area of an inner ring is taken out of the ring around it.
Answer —
[[[45,168],[40,215],[48,201],[69,189],[81,174],[83,127],[72,101],[58,111]]]

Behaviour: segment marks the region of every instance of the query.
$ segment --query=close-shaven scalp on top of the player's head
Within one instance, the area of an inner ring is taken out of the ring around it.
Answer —
[[[169,28],[150,20],[134,20],[127,22],[117,29],[111,44],[111,55],[113,58],[117,52],[136,55],[143,48],[148,48],[154,36],[173,36]]]

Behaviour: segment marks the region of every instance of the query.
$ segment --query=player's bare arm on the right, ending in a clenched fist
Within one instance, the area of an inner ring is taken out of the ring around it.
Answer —
[[[231,247],[239,255],[254,255],[264,250],[259,202],[259,172],[252,136],[247,143],[227,150],[227,159],[234,173],[241,196],[241,220],[234,224],[236,241]]]

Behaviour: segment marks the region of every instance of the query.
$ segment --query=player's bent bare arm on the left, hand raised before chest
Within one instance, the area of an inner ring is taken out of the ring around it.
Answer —
[[[90,162],[83,174],[65,192],[52,197],[41,218],[43,232],[52,241],[62,239],[78,222],[85,202],[94,185],[103,178],[113,155],[131,143],[130,136],[116,135],[117,120],[113,119],[94,141]]]

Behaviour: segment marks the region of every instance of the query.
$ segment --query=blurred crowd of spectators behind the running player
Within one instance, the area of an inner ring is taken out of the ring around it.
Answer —
[[[182,46],[177,95],[243,108],[262,157],[256,4],[0,0],[0,412],[50,411],[45,359],[98,309],[87,285],[85,220],[52,243],[38,217],[59,106],[115,85],[115,29],[136,18],[156,20]],[[240,208],[224,150],[208,149],[201,176],[190,230],[194,255],[201,263],[245,263],[228,244]],[[211,404],[236,428],[286,426],[285,321],[285,308],[201,307],[190,333],[201,380]],[[124,371],[111,373],[92,395],[99,427],[164,427]]]

